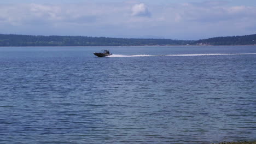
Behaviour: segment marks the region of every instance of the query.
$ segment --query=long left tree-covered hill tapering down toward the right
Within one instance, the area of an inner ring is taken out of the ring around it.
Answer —
[[[132,45],[187,45],[192,40],[125,39],[82,36],[43,36],[0,34],[0,46],[132,46]]]

